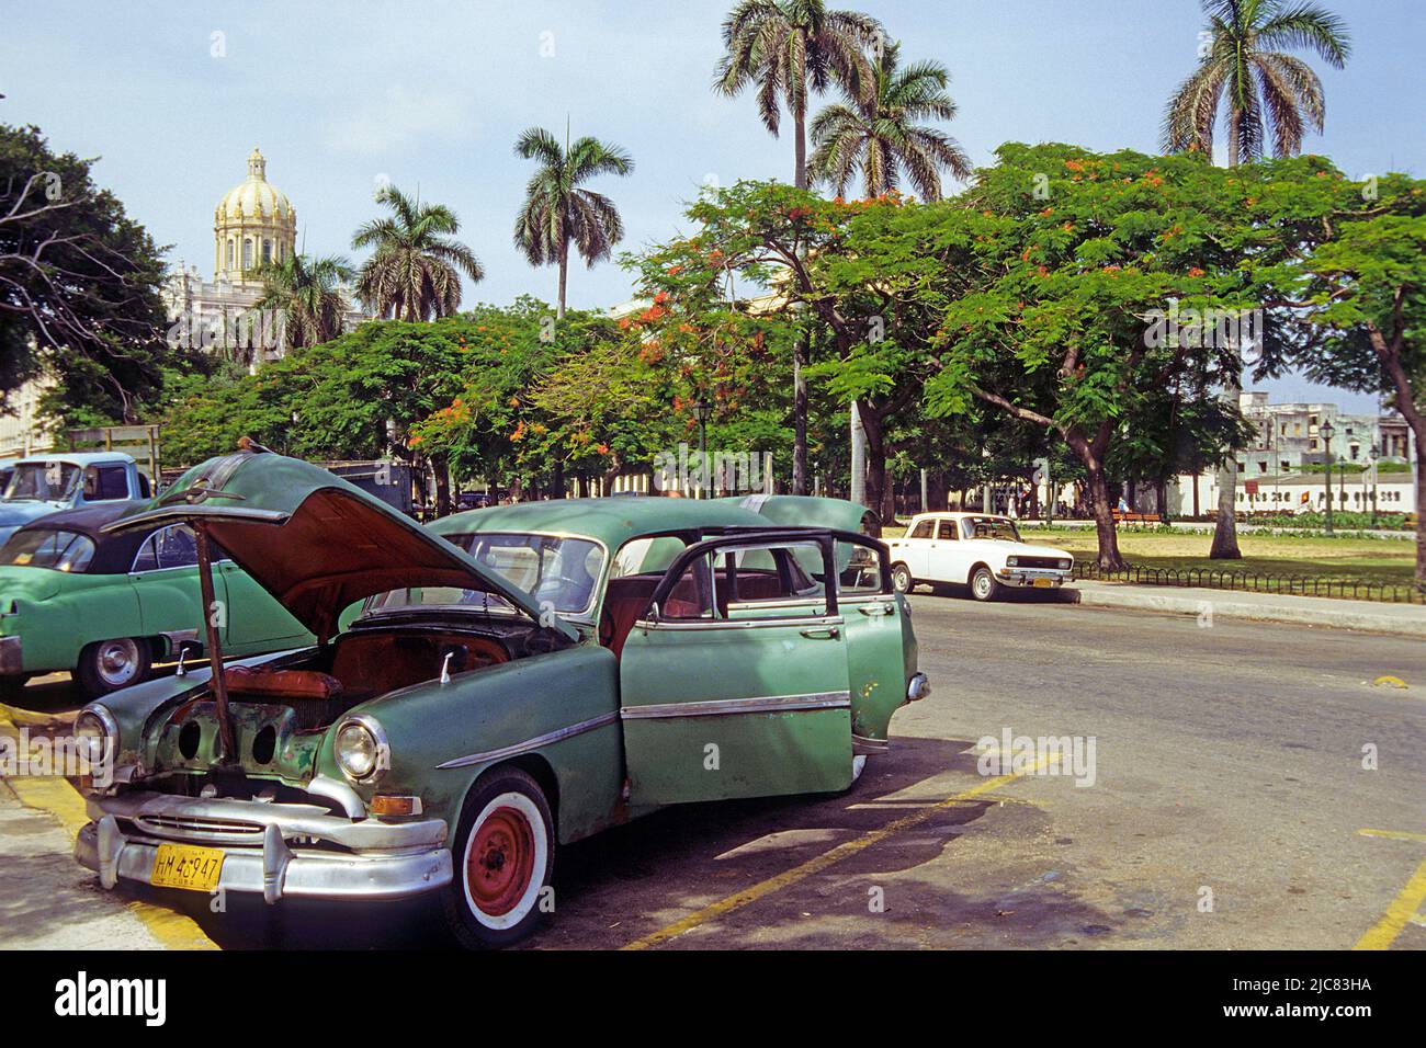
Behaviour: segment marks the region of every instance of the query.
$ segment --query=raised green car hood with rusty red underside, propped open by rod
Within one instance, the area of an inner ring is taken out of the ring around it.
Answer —
[[[542,622],[533,596],[355,485],[301,459],[241,451],[194,466],[106,532],[202,522],[232,560],[325,640],[342,610],[394,589],[493,593]],[[573,626],[543,616],[569,639]]]

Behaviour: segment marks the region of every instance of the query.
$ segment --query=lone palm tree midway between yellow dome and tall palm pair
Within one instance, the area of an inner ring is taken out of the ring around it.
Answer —
[[[569,245],[573,244],[585,264],[609,258],[609,250],[623,240],[623,220],[615,202],[602,192],[579,188],[580,183],[602,174],[626,175],[633,158],[619,145],[597,138],[580,138],[565,148],[543,127],[530,127],[515,143],[515,154],[535,160],[539,168],[525,187],[525,204],[515,220],[515,247],[530,265],[559,267],[559,305],[556,317],[565,318],[565,288],[569,282]]]

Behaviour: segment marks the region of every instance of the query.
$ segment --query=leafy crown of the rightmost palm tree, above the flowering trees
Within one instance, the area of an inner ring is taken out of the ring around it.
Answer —
[[[1273,155],[1298,154],[1306,125],[1322,134],[1326,106],[1312,67],[1279,48],[1309,47],[1342,68],[1352,51],[1346,23],[1323,7],[1285,0],[1202,4],[1209,47],[1169,98],[1164,148],[1211,154],[1218,110],[1226,107],[1229,165],[1263,155],[1265,123],[1272,124]]]

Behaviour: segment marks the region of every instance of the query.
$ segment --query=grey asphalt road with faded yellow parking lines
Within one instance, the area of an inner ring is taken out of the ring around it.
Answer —
[[[566,848],[528,947],[1346,948],[1426,870],[1426,644],[913,605],[935,692],[848,793],[670,808]],[[1092,784],[991,781],[977,740],[1007,730],[1092,737]],[[429,905],[143,897],[228,948],[443,945]],[[1423,921],[1393,948],[1426,947]]]

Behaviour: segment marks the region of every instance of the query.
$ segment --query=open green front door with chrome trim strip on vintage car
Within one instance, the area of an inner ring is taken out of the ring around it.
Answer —
[[[831,535],[747,532],[689,546],[620,656],[633,804],[851,784],[846,630]]]

